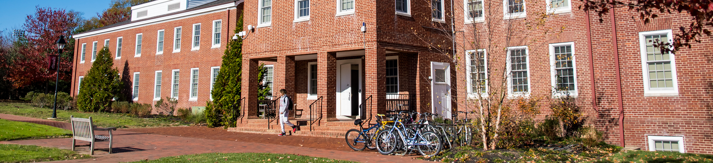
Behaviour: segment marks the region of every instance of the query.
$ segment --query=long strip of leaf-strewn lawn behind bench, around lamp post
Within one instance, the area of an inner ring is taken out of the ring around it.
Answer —
[[[35,117],[40,119],[46,119],[52,116],[52,110],[48,108],[38,108],[32,107],[26,103],[8,103],[0,102],[0,113],[9,115],[19,115],[24,117]],[[94,120],[94,125],[100,127],[117,127],[117,128],[130,128],[130,127],[167,127],[167,126],[179,126],[186,125],[182,121],[170,120],[169,118],[136,118],[130,117],[128,114],[119,114],[111,112],[76,112],[76,111],[65,111],[57,110],[58,121],[69,122],[69,117],[74,115],[74,117],[92,117]]]

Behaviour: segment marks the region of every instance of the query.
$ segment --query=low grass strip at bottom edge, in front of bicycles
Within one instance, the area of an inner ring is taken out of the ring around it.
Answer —
[[[292,161],[290,161],[292,160]],[[174,157],[161,157],[155,160],[142,160],[138,162],[245,162],[245,163],[317,163],[317,162],[349,162],[338,159],[327,159],[322,157],[298,156],[295,154],[272,154],[272,153],[207,153],[189,154]],[[353,162],[356,163],[356,162]]]

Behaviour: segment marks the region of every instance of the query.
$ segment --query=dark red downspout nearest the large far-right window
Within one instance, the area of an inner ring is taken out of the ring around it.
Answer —
[[[624,101],[622,100],[622,78],[621,70],[619,67],[619,45],[617,42],[617,27],[614,21],[615,18],[615,7],[612,6],[612,13],[610,14],[610,23],[612,24],[612,42],[614,43],[614,64],[616,65],[617,72],[617,100],[619,102],[619,143],[622,147],[626,147],[624,141]]]

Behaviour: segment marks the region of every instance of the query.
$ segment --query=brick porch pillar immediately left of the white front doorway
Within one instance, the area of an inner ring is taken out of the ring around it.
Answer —
[[[317,54],[317,95],[322,96],[322,121],[337,120],[337,53]]]

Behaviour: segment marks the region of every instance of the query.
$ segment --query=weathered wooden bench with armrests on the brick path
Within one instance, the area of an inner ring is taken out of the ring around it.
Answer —
[[[116,127],[108,127],[108,128],[98,128],[96,125],[93,124],[91,117],[89,118],[78,118],[74,117],[74,115],[71,116],[71,122],[72,122],[72,151],[74,151],[75,147],[81,147],[77,146],[76,142],[77,140],[82,140],[82,141],[87,141],[91,142],[89,144],[89,148],[91,149],[91,154],[94,154],[94,142],[105,142],[109,141],[109,153],[111,154],[111,143],[113,140],[113,135],[111,134],[111,130],[116,130]],[[94,131],[109,131],[109,136],[103,136],[103,135],[94,135]]]

